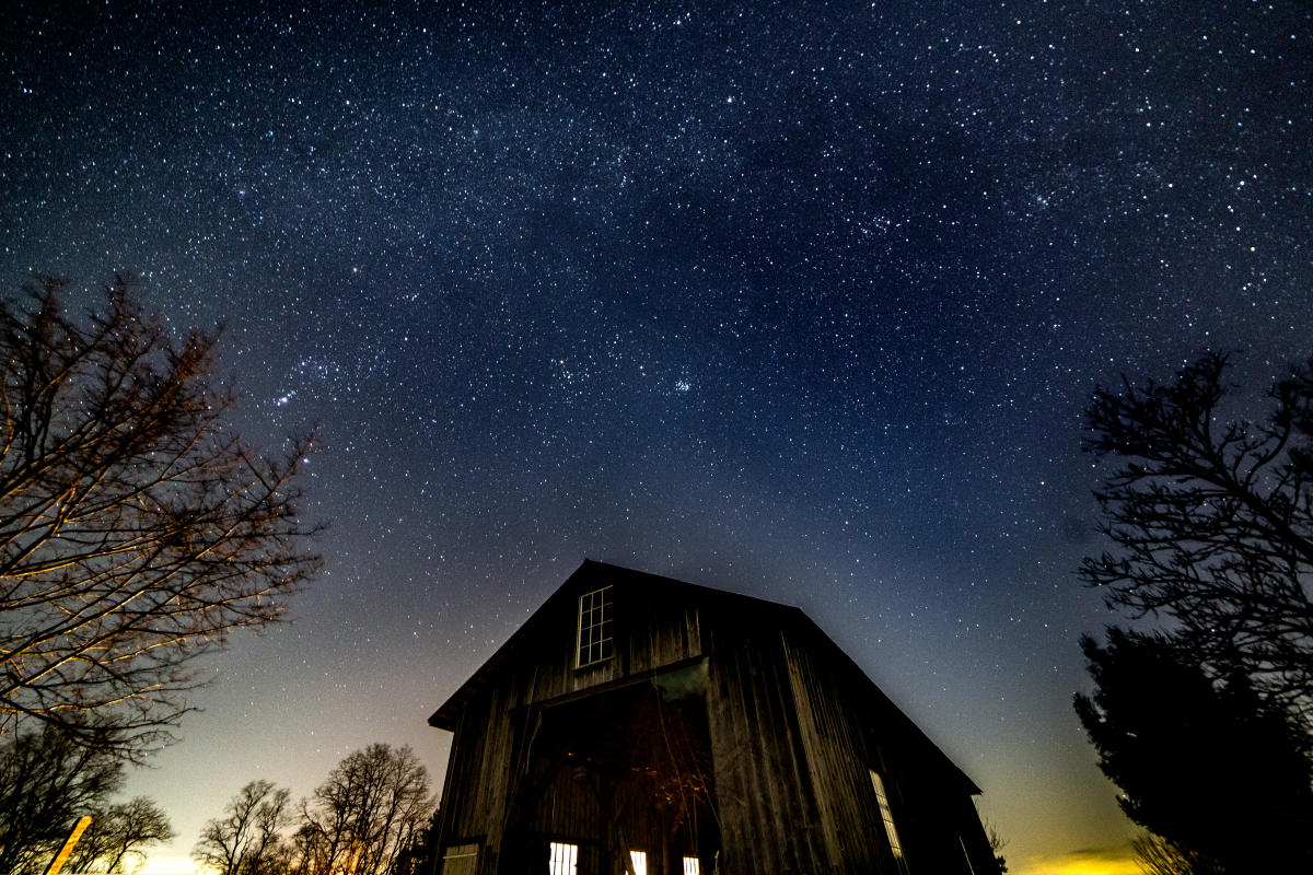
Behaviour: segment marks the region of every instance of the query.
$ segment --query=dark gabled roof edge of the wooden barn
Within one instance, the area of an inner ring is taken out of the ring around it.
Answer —
[[[765,601],[763,598],[754,598],[752,596],[743,596],[741,593],[731,593],[723,589],[712,589],[710,586],[700,586],[697,584],[689,584],[681,580],[675,580],[674,577],[663,577],[660,575],[650,575],[647,572],[635,571],[633,568],[625,568],[622,565],[612,565],[609,563],[595,561],[592,559],[584,559],[583,564],[563,584],[561,584],[557,590],[548,597],[548,600],[536,610],[528,621],[524,622],[520,628],[517,628],[506,643],[499,647],[488,660],[479,666],[469,680],[462,683],[456,693],[453,693],[446,702],[444,702],[437,711],[435,711],[429,719],[428,724],[437,727],[440,729],[446,729],[454,732],[460,724],[461,712],[465,710],[470,699],[484,686],[496,678],[502,669],[511,662],[523,645],[527,641],[533,640],[537,626],[544,622],[544,617],[550,613],[559,601],[570,601],[578,597],[579,593],[593,589],[599,585],[611,584],[613,586],[630,588],[630,586],[659,586],[663,594],[668,594],[670,598],[675,598],[683,594],[689,601],[696,601],[700,605],[718,606],[721,609],[729,609],[733,611],[737,619],[743,622],[754,623],[768,623],[775,628],[788,628],[794,634],[802,634],[807,638],[813,638],[819,641],[826,649],[836,656],[842,662],[850,666],[851,673],[855,678],[860,678],[861,686],[867,687],[865,693],[873,699],[878,701],[889,715],[901,724],[899,735],[911,739],[918,746],[924,746],[932,756],[941,760],[943,765],[955,775],[960,777],[961,782],[965,784],[969,792],[978,794],[979,787],[961,770],[957,767],[952,760],[948,758],[939,746],[926,736],[924,732],[906,716],[898,706],[895,706],[884,691],[876,686],[876,683],[867,677],[867,673],[852,661],[843,649],[835,644],[825,631],[821,630],[817,623],[806,615],[800,607],[792,605],[780,605],[777,602]]]

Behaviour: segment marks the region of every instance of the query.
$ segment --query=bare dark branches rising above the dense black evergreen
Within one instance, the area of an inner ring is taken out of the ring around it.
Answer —
[[[1313,698],[1313,361],[1258,420],[1224,421],[1226,369],[1208,354],[1170,383],[1095,392],[1086,449],[1123,464],[1095,493],[1113,550],[1081,577],[1109,606],[1165,619],[1215,677],[1241,672],[1301,711]]]

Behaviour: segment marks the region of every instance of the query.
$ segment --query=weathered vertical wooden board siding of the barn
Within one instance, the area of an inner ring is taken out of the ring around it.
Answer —
[[[578,597],[608,582],[614,657],[576,669]],[[885,778],[914,872],[966,872],[958,834],[976,874],[997,872],[969,782],[801,611],[597,563],[586,563],[435,714],[457,735],[444,845],[482,841],[478,871],[494,875],[509,853],[500,853],[507,828],[596,841],[607,812],[567,769],[532,784],[534,805],[519,809],[517,791],[545,767],[533,765],[533,722],[545,707],[701,657],[722,872],[894,875],[868,767]],[[635,817],[645,837],[630,846],[653,844],[654,815]],[[642,850],[656,875],[659,849]]]

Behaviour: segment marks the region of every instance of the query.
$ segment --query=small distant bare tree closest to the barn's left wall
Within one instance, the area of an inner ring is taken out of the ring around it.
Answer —
[[[372,744],[343,760],[302,803],[301,871],[383,875],[433,816],[428,770],[410,746]]]

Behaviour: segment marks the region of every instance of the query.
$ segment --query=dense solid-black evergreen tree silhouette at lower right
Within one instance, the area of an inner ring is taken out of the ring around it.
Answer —
[[[1313,791],[1301,736],[1245,674],[1213,681],[1163,636],[1082,639],[1096,690],[1075,710],[1127,815],[1192,871],[1309,871]]]

